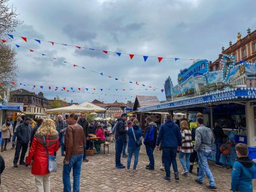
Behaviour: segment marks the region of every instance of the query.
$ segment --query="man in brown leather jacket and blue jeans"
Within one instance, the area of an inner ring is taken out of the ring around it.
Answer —
[[[81,164],[84,156],[86,137],[83,128],[77,123],[77,115],[71,113],[67,119],[65,135],[65,160],[63,165],[64,191],[71,191],[70,172],[73,168],[73,192],[79,191]]]

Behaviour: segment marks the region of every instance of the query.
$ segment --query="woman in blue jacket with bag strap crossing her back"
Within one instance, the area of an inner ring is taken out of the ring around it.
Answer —
[[[128,141],[128,158],[127,158],[127,171],[130,170],[131,158],[134,154],[133,172],[136,172],[137,163],[139,161],[139,150],[141,146],[140,138],[142,135],[141,129],[139,128],[139,121],[133,120],[133,126],[129,127],[127,132],[129,137]]]

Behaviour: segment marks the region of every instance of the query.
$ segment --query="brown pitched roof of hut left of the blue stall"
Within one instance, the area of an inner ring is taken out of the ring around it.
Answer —
[[[139,107],[150,106],[154,104],[160,104],[156,96],[136,96],[133,110],[137,110]]]

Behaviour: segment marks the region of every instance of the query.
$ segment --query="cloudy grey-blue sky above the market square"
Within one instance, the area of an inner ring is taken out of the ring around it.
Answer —
[[[236,42],[237,32],[243,37],[248,27],[253,31],[256,26],[254,0],[11,0],[9,3],[16,7],[18,20],[23,22],[13,32],[16,35],[13,43],[59,59],[42,57],[22,47],[16,49],[18,82],[26,84],[24,88],[30,91],[36,85],[35,92],[40,91],[38,86],[44,86],[46,98],[53,99],[58,94],[68,102],[94,98],[127,102],[134,101],[136,95],[156,95],[165,100],[160,91],[164,80],[170,75],[176,85],[179,70],[189,67],[191,61],[163,59],[158,63],[156,58],[149,57],[145,63],[141,56],[131,60],[129,55],[118,57],[49,42],[24,42],[18,36],[135,55],[214,61],[222,45],[227,48],[229,40]],[[157,89],[145,90],[136,81]],[[59,90],[48,90],[48,86],[52,89],[58,86]],[[61,91],[61,87],[73,88],[75,92]],[[82,92],[77,92],[77,88],[82,88]],[[88,92],[85,88],[89,88]]]

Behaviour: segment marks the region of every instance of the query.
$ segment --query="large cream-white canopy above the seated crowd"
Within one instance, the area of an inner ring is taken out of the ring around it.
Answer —
[[[96,106],[95,104],[92,104],[90,102],[84,102],[83,104],[79,105],[71,105],[71,106],[65,106],[61,108],[53,108],[49,110],[45,110],[47,114],[61,114],[61,113],[99,113],[103,112],[106,109]]]

